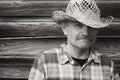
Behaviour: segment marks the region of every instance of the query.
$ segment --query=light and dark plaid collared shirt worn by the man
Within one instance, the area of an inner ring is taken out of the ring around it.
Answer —
[[[62,48],[51,49],[35,59],[29,80],[120,80],[114,63],[101,53],[90,51],[83,66]]]

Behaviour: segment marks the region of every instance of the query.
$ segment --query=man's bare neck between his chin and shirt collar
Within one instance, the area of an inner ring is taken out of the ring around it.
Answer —
[[[83,49],[67,44],[66,49],[72,57],[77,59],[87,59],[89,56],[89,48]]]

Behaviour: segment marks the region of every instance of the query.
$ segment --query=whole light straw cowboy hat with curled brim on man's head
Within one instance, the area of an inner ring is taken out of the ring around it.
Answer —
[[[104,28],[113,20],[112,16],[100,17],[100,10],[94,0],[70,0],[66,11],[54,11],[52,18],[58,24],[70,20],[93,28]]]

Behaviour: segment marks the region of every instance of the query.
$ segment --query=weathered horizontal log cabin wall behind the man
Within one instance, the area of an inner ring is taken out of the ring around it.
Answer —
[[[0,0],[0,80],[27,80],[33,59],[66,38],[51,13],[69,0]],[[94,47],[114,60],[120,72],[120,0],[97,0],[101,16],[113,16]]]

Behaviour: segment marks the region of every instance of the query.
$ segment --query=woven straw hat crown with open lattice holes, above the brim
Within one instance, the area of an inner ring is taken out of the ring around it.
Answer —
[[[65,13],[75,19],[100,21],[100,10],[94,0],[70,0]]]

